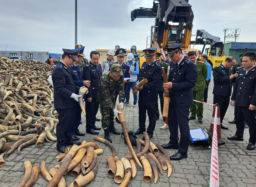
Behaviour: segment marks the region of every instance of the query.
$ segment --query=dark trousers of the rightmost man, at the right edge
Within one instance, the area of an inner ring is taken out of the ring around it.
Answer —
[[[247,123],[249,127],[249,142],[256,143],[256,119],[255,111],[250,111],[247,107],[235,106],[235,125],[237,126],[237,131],[235,136],[238,138],[244,137],[244,127]]]

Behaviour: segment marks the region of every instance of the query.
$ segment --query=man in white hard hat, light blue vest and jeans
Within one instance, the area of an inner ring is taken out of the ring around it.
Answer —
[[[129,105],[130,102],[130,90],[134,89],[134,87],[137,85],[137,75],[139,74],[139,64],[134,61],[134,55],[132,53],[127,54],[127,60],[128,63],[127,66],[130,67],[129,73],[130,73],[130,81],[127,83],[127,90],[125,94],[125,103],[124,105]],[[138,94],[134,95],[134,105],[133,107],[137,106],[138,102]]]

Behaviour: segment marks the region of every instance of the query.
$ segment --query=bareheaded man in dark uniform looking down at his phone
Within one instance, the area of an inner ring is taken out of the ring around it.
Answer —
[[[228,129],[223,126],[223,118],[227,112],[229,100],[232,91],[232,83],[235,81],[237,74],[233,74],[231,68],[235,65],[234,57],[227,57],[225,62],[213,68],[213,104],[219,104],[220,107],[220,128]]]

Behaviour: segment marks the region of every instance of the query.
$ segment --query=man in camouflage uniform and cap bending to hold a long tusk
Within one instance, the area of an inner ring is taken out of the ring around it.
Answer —
[[[104,129],[104,138],[112,143],[109,131],[116,130],[114,127],[114,114],[119,112],[115,108],[115,89],[118,88],[119,105],[124,108],[124,75],[120,64],[112,64],[110,71],[102,75],[98,85],[97,97],[100,105],[101,123]],[[110,130],[109,130],[110,128]]]

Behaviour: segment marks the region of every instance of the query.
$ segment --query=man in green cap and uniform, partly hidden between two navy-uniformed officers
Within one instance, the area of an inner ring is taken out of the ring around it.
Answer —
[[[167,71],[168,71],[169,64],[165,63],[165,62],[162,62],[162,58],[161,58],[162,53],[156,53],[156,55],[157,55],[156,56],[157,63],[161,66],[161,68],[164,70],[164,72],[167,76]],[[160,98],[161,113],[163,113],[163,109],[164,109],[164,87],[163,87],[163,85],[164,85],[164,78],[162,77],[160,83],[158,84],[158,96]],[[159,110],[158,110],[158,102],[156,104],[156,117],[157,117],[157,120],[160,117],[160,113],[159,113]]]

